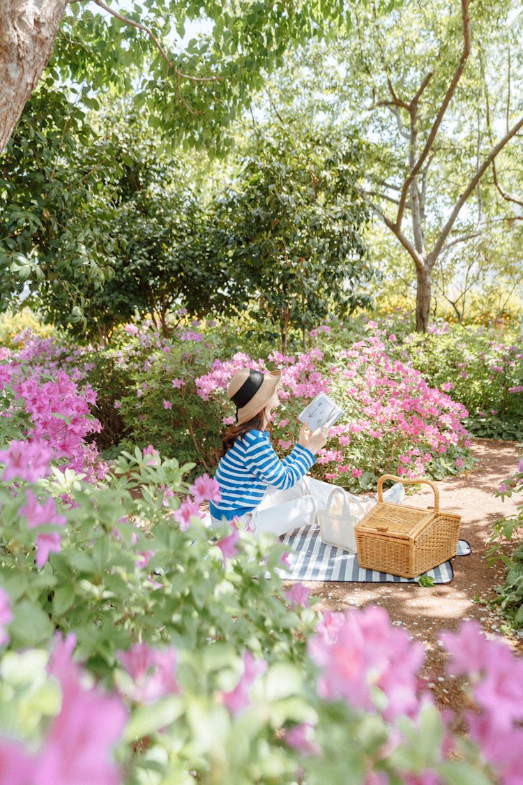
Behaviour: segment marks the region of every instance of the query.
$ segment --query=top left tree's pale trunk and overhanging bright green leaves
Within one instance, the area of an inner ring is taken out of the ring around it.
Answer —
[[[248,106],[289,48],[350,24],[342,0],[32,0],[2,4],[0,151],[44,68],[96,107],[104,90],[133,93],[171,141],[223,148],[223,129]],[[380,0],[383,13],[398,0]]]

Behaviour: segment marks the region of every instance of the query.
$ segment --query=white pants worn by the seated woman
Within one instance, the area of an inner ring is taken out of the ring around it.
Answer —
[[[327,508],[329,496],[335,487],[335,485],[315,480],[314,477],[307,475],[285,491],[280,491],[273,485],[269,485],[260,504],[239,519],[239,527],[249,528],[255,536],[263,532],[271,532],[279,537],[285,535],[287,531],[302,526],[317,526],[318,509]],[[349,502],[352,500],[353,504],[350,510],[358,518],[361,518],[376,504],[372,500],[361,501],[348,491],[343,491],[343,493],[348,496]],[[363,512],[361,512],[360,506],[363,508]]]

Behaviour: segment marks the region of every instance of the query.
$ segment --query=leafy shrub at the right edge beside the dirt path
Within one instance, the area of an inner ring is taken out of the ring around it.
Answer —
[[[499,557],[507,567],[504,586],[497,590],[499,604],[515,627],[523,628],[523,545],[518,546],[512,557],[507,557],[501,545],[510,540],[517,529],[523,529],[523,457],[518,468],[496,491],[496,496],[514,498],[518,510],[514,515],[498,520],[492,529],[492,542],[495,543],[490,555]]]

